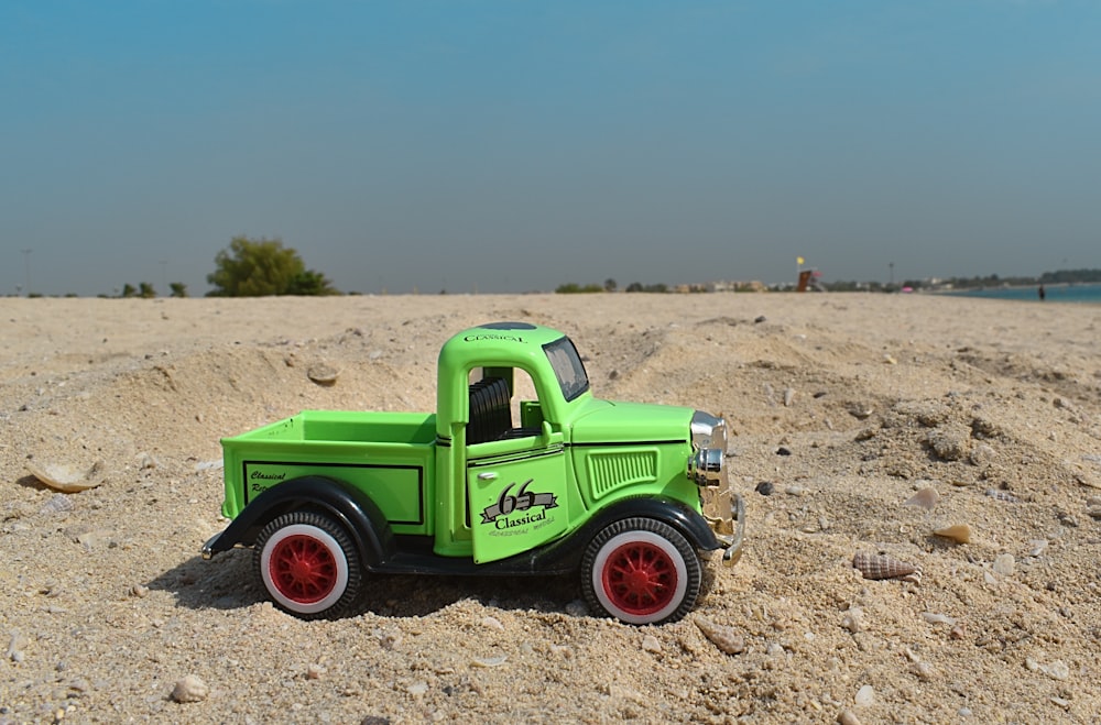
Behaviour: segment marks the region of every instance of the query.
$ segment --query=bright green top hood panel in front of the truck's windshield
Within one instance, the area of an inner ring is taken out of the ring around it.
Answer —
[[[574,422],[573,443],[688,442],[691,408],[593,399]]]

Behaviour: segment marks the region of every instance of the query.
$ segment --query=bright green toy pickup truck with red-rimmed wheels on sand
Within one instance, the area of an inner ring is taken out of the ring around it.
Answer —
[[[570,339],[526,322],[453,337],[437,384],[435,414],[306,410],[222,439],[232,520],[204,558],[253,547],[306,619],[352,612],[372,573],[580,571],[592,611],[643,625],[691,609],[700,552],[741,554],[721,418],[597,399]]]

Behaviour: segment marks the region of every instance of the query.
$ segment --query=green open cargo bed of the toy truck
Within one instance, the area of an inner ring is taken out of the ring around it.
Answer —
[[[304,410],[221,440],[222,514],[235,518],[273,485],[303,476],[342,481],[382,508],[396,534],[430,530],[436,416]]]

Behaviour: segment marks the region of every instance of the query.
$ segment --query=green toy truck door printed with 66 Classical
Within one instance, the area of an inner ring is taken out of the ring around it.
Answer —
[[[497,561],[550,541],[567,526],[566,454],[562,433],[467,448],[476,563]]]

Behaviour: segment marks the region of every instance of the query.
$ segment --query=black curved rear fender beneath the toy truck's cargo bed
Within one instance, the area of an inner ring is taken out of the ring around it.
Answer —
[[[270,520],[297,509],[321,512],[338,520],[352,537],[368,569],[397,549],[386,517],[370,496],[337,479],[308,475],[284,481],[253,498],[225,531],[203,548],[203,554],[209,558],[239,543],[251,546]]]

